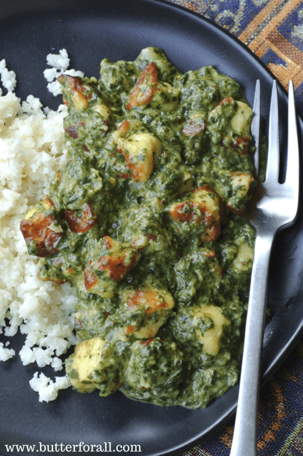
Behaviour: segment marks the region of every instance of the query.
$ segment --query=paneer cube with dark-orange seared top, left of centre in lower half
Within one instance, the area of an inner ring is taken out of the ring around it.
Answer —
[[[102,298],[114,296],[118,283],[140,259],[130,244],[122,244],[109,236],[97,243],[93,258],[84,271],[86,290]]]

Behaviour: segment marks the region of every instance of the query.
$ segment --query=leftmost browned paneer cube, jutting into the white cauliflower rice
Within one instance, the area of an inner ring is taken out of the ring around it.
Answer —
[[[59,252],[58,244],[64,233],[59,212],[48,196],[27,212],[20,230],[31,255],[45,257]]]

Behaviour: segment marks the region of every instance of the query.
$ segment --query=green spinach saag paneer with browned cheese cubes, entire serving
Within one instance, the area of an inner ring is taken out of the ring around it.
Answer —
[[[181,74],[154,47],[59,82],[69,161],[20,228],[41,279],[77,289],[68,377],[82,393],[205,407],[239,373],[253,111],[230,77]]]

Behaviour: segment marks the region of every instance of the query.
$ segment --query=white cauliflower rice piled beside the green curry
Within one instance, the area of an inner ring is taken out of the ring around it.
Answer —
[[[44,71],[48,89],[61,93],[57,77],[61,73],[84,76],[68,70],[66,50],[49,54],[51,68]],[[48,193],[48,183],[67,161],[63,118],[67,108],[43,109],[40,100],[29,95],[20,102],[13,90],[14,71],[0,61],[0,334],[13,337],[25,334],[19,353],[9,341],[0,343],[0,361],[20,356],[23,365],[50,365],[55,372],[63,369],[61,355],[74,345],[74,308],[76,296],[71,285],[56,285],[38,278],[37,267],[27,254],[19,225],[24,214]],[[70,386],[67,376],[46,377],[36,372],[31,387],[40,401],[56,399],[58,391]]]

